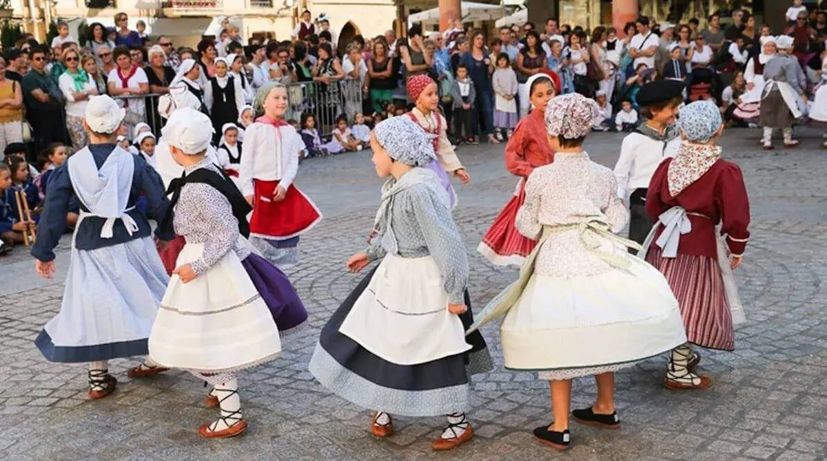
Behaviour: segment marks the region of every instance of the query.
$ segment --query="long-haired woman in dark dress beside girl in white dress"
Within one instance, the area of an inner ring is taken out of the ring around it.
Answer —
[[[491,87],[494,63],[485,52],[485,36],[482,31],[471,31],[470,41],[471,50],[462,55],[460,62],[468,67],[468,75],[476,90],[476,104],[472,107],[474,131],[485,133],[489,143],[500,144],[494,137],[494,88]]]

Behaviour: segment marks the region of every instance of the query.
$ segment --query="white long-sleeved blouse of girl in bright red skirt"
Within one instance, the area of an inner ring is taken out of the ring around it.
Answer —
[[[253,195],[253,179],[279,181],[282,188],[289,188],[299,173],[302,150],[304,141],[293,126],[275,128],[259,122],[248,126],[241,146],[241,193]]]

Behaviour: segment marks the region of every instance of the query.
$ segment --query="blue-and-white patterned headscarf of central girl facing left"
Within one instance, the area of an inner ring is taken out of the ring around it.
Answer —
[[[433,135],[428,135],[410,117],[394,116],[381,121],[373,132],[390,158],[397,162],[425,166],[437,158],[431,142]]]

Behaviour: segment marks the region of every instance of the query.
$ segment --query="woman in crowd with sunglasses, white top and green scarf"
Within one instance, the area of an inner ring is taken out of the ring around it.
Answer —
[[[80,67],[80,55],[77,51],[65,50],[63,60],[66,71],[60,76],[58,85],[66,99],[66,128],[75,151],[88,144],[88,136],[84,129],[84,116],[89,97],[98,94],[98,85],[93,78]]]

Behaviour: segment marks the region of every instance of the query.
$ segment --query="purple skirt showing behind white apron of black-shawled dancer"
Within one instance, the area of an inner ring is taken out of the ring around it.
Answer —
[[[264,299],[279,331],[291,330],[308,320],[308,312],[289,278],[269,261],[251,253],[241,265]]]

